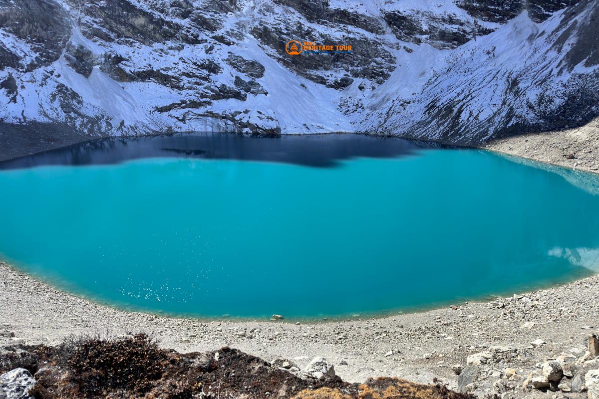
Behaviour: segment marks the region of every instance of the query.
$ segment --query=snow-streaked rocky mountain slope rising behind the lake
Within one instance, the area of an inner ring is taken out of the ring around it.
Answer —
[[[0,0],[0,122],[471,144],[599,115],[599,0]],[[352,46],[299,55],[290,40]]]

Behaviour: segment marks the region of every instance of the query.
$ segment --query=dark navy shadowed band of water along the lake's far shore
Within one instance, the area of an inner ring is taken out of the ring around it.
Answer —
[[[355,134],[257,138],[234,133],[174,133],[108,138],[0,162],[0,169],[40,165],[113,164],[152,157],[192,157],[331,167],[354,157],[398,157],[440,145]]]

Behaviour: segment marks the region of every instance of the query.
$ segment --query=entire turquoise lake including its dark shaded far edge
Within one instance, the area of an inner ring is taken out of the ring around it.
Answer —
[[[0,163],[0,258],[128,309],[422,309],[596,272],[597,187],[397,139],[113,139]]]

